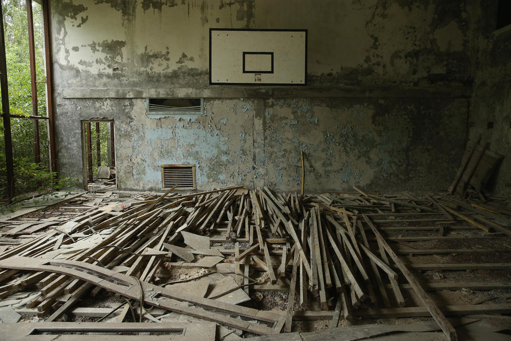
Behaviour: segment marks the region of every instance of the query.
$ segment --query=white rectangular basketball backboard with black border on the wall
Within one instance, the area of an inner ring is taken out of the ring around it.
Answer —
[[[307,84],[307,30],[210,29],[210,84]]]

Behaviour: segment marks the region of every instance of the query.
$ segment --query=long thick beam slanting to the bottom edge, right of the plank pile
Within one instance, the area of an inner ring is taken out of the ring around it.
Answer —
[[[417,279],[413,276],[413,274],[408,270],[408,268],[401,262],[398,255],[394,253],[392,248],[387,244],[383,236],[380,234],[378,229],[375,225],[369,220],[369,218],[363,214],[364,220],[367,222],[367,224],[370,226],[371,230],[373,230],[373,233],[375,234],[376,238],[381,242],[383,247],[385,248],[385,251],[387,254],[392,258],[394,263],[399,267],[403,275],[406,277],[406,280],[410,285],[412,286],[413,290],[417,294],[417,297],[421,301],[422,305],[428,309],[433,319],[438,323],[438,326],[442,328],[446,336],[450,340],[456,340],[456,330],[452,326],[452,324],[446,319],[445,315],[442,313],[440,309],[433,303],[433,301],[429,298],[428,293],[421,287]]]

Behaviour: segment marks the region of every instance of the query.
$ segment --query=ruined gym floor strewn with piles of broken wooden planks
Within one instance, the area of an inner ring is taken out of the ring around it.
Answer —
[[[506,198],[94,190],[0,216],[4,323],[214,322],[217,339],[505,336]]]

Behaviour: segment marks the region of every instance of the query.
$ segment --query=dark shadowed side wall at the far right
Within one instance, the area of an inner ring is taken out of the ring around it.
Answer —
[[[470,105],[469,138],[482,135],[490,150],[504,155],[489,190],[497,195],[511,195],[511,25],[495,30],[497,1],[483,9],[486,31],[477,35],[477,58]],[[493,122],[493,128],[488,127]]]

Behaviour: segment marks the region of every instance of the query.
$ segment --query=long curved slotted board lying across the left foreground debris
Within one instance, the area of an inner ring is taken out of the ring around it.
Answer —
[[[94,283],[107,290],[119,293],[129,299],[140,300],[142,298],[145,303],[152,306],[200,317],[208,321],[215,321],[259,335],[279,333],[280,329],[273,329],[266,325],[235,319],[221,312],[248,317],[250,320],[269,322],[276,326],[282,326],[285,321],[285,317],[280,313],[261,311],[217,300],[183,295],[171,289],[147,282],[140,282],[118,272],[79,261],[12,257],[0,261],[0,268],[39,270],[80,278],[88,283]],[[187,301],[195,306],[213,309],[218,312],[183,306],[180,301]]]

